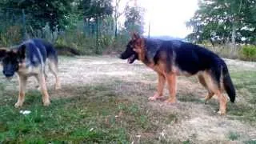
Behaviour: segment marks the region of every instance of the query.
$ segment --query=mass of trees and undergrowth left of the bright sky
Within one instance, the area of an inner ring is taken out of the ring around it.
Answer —
[[[27,38],[46,38],[58,48],[102,54],[122,47],[129,31],[142,33],[142,8],[121,0],[3,0],[0,2],[0,46]],[[124,17],[125,22],[119,22]],[[123,24],[124,23],[124,24]]]

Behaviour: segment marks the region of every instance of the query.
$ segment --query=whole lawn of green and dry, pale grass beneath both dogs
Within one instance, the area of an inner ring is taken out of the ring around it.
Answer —
[[[195,78],[179,78],[178,104],[166,106],[147,100],[157,76],[142,64],[110,57],[60,62],[62,90],[53,90],[51,75],[48,107],[30,82],[24,105],[14,108],[17,78],[8,82],[1,74],[0,143],[256,143],[255,67],[228,63],[237,101],[228,103],[226,116],[218,116],[218,100],[204,105],[199,95],[206,91]],[[204,135],[208,133],[213,137]]]

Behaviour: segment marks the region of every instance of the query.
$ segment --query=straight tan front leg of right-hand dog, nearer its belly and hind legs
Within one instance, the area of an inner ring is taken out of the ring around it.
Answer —
[[[168,98],[165,102],[167,103],[175,103],[176,102],[176,74],[166,74],[166,79],[168,82],[168,89],[170,92],[170,98]]]

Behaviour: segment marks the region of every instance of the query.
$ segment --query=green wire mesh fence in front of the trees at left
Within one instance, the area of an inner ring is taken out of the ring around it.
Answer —
[[[98,50],[109,45],[114,38],[115,23],[111,16],[84,18],[75,22],[72,28],[60,29],[52,26],[54,19],[35,26],[31,13],[22,9],[0,10],[0,46],[16,45],[28,38],[45,38],[61,45],[75,43],[82,46],[86,42],[87,47],[90,45]]]

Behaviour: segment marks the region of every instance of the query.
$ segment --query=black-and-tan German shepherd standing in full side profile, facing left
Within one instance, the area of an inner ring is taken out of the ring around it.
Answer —
[[[131,64],[136,59],[158,73],[157,93],[149,100],[162,98],[165,82],[168,83],[170,98],[165,102],[176,102],[176,79],[178,75],[197,75],[199,82],[208,90],[206,102],[216,94],[219,100],[218,114],[226,114],[227,99],[223,91],[235,100],[235,90],[226,63],[210,50],[189,42],[163,41],[141,38],[133,34],[126,50],[120,55]]]

